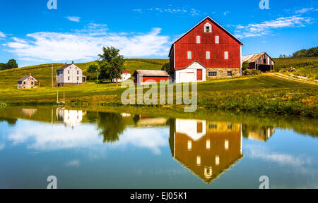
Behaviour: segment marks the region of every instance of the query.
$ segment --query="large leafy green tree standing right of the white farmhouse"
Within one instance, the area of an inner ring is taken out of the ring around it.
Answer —
[[[114,47],[103,47],[103,54],[99,54],[100,59],[98,65],[100,66],[100,79],[117,79],[122,76],[124,72],[124,56],[119,54],[119,49]],[[116,80],[116,86],[118,81]]]

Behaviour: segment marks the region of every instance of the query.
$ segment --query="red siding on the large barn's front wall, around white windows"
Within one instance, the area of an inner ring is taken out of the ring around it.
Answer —
[[[212,25],[212,32],[204,32],[206,23]],[[196,44],[197,35],[201,36],[200,44]],[[219,44],[215,44],[216,36],[219,36]],[[240,46],[232,36],[206,19],[175,43],[175,59],[171,54],[170,60],[175,63],[175,70],[187,68],[194,61],[206,68],[240,68]],[[192,51],[192,59],[187,59],[188,51]],[[210,51],[210,59],[206,59],[206,51]],[[225,51],[229,53],[228,60],[224,59]]]

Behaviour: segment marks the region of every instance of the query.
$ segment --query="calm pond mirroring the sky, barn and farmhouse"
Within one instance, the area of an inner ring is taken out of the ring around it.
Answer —
[[[318,188],[317,119],[154,115],[0,109],[0,188]]]

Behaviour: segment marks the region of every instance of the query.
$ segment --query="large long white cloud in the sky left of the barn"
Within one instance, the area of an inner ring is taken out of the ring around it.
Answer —
[[[160,28],[127,34],[107,32],[106,26],[90,23],[73,33],[35,32],[4,45],[19,59],[48,62],[95,60],[102,47],[116,47],[125,57],[166,56],[169,51],[170,37],[160,35]]]

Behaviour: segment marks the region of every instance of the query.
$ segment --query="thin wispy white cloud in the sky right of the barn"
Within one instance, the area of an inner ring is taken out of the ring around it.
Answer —
[[[259,24],[237,25],[235,36],[239,38],[245,37],[259,37],[267,35],[271,30],[283,27],[303,27],[306,24],[312,23],[313,19],[310,17],[290,16],[284,18],[277,18],[271,21],[264,21]]]

